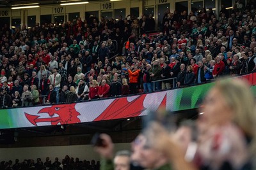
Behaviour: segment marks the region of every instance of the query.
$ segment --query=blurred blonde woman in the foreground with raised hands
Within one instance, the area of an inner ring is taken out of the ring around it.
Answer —
[[[189,152],[196,153],[196,160],[200,160],[196,166],[195,154],[188,161],[180,141],[168,137],[163,126],[155,122],[147,130],[151,148],[168,155],[175,170],[255,169],[255,99],[250,86],[241,79],[217,81],[202,106],[198,138],[191,141],[195,152]]]

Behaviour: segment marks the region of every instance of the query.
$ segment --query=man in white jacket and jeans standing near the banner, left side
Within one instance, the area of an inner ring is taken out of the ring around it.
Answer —
[[[61,74],[57,72],[56,68],[52,69],[52,74],[49,76],[49,80],[51,85],[53,85],[54,91],[56,92],[56,103],[59,103]]]

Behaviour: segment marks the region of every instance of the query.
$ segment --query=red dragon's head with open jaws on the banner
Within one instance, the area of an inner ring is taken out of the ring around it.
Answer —
[[[76,124],[80,123],[81,120],[77,118],[80,113],[76,111],[75,105],[76,103],[59,104],[48,108],[42,108],[42,110],[38,111],[38,114],[48,113],[49,118],[40,118],[40,116],[29,115],[28,113],[25,113],[25,116],[33,125],[37,125],[39,122],[51,122],[52,125],[57,125],[59,123],[61,125]],[[58,115],[58,117],[55,117],[56,115]]]

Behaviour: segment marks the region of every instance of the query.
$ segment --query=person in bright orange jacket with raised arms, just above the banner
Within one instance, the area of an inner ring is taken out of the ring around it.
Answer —
[[[128,73],[129,73],[129,86],[131,89],[131,94],[136,94],[138,79],[140,76],[140,69],[138,69],[137,66],[131,66],[131,69],[128,69]]]

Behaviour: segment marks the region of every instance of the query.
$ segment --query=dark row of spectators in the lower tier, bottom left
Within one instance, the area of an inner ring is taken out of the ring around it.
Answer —
[[[15,162],[12,160],[1,161],[0,163],[1,170],[99,170],[100,161],[95,162],[95,160],[79,160],[79,158],[74,159],[73,157],[65,156],[63,160],[56,157],[54,162],[50,160],[49,157],[46,157],[45,162],[40,158],[26,159],[23,162],[20,162],[19,159],[15,159]]]

